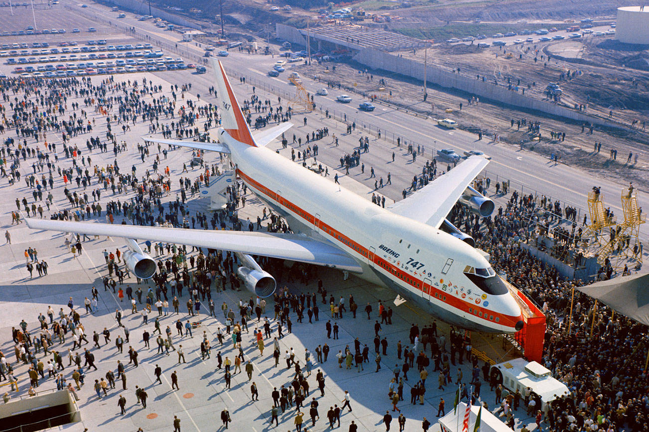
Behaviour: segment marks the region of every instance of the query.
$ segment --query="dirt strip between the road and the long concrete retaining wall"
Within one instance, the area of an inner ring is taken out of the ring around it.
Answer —
[[[429,56],[430,57],[430,56]],[[555,153],[559,156],[561,163],[579,166],[594,175],[609,177],[611,179],[628,179],[641,188],[649,188],[649,152],[646,149],[646,141],[637,139],[637,131],[620,130],[598,130],[592,134],[586,129],[582,133],[581,124],[566,122],[563,119],[556,119],[541,113],[530,114],[509,106],[503,106],[496,102],[485,102],[480,100],[478,105],[469,105],[467,95],[463,92],[430,87],[426,102],[422,101],[422,87],[420,82],[414,82],[411,78],[385,73],[385,71],[369,71],[374,75],[373,81],[358,79],[358,71],[364,66],[354,63],[335,63],[336,71],[332,71],[332,65],[318,65],[312,63],[310,66],[300,67],[300,73],[307,75],[327,76],[329,80],[341,82],[341,84],[353,89],[357,93],[377,94],[380,98],[403,108],[411,109],[419,113],[425,113],[434,118],[448,117],[458,121],[460,128],[469,131],[482,129],[487,135],[498,133],[500,141],[509,145],[519,146],[520,141],[526,142],[527,148],[535,152],[550,156]],[[329,72],[323,73],[328,66]],[[386,80],[386,90],[380,91],[378,80]],[[356,84],[356,86],[354,86]],[[391,97],[389,91],[392,92]],[[459,104],[463,107],[459,110]],[[452,113],[446,113],[445,109],[451,108]],[[517,124],[511,127],[511,120],[527,119],[528,122],[541,122],[541,142],[530,141],[527,128],[521,127],[517,130]],[[565,132],[566,139],[563,142],[550,141],[550,131]],[[594,142],[602,142],[600,153],[593,151]],[[610,149],[618,151],[616,161],[609,160]],[[637,164],[627,165],[626,158],[629,152],[638,153]]]

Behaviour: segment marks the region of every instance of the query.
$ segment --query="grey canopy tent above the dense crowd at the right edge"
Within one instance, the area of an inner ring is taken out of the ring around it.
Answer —
[[[649,325],[649,273],[601,280],[577,290],[606,304],[615,312]]]

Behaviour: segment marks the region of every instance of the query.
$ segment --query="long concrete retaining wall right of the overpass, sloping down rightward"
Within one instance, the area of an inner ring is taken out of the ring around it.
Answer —
[[[399,73],[405,76],[410,76],[417,80],[424,79],[424,65],[415,60],[408,58],[398,57],[389,52],[377,51],[374,49],[361,49],[354,60],[363,65],[373,69],[383,69],[393,73]],[[579,122],[587,122],[593,124],[600,124],[602,126],[618,128],[619,126],[612,122],[607,122],[604,119],[591,117],[578,111],[574,111],[545,100],[530,98],[517,93],[516,91],[508,90],[506,87],[483,82],[482,79],[469,78],[457,73],[445,71],[438,67],[428,65],[426,73],[426,81],[447,87],[457,89],[476,95],[480,98],[495,100],[504,104],[517,106],[525,109],[534,109],[550,115],[565,117],[567,119],[576,120]]]

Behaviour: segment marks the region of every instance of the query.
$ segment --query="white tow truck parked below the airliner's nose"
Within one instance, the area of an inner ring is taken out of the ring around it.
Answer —
[[[568,386],[552,377],[552,372],[537,363],[524,358],[511,359],[491,367],[491,380],[502,384],[509,391],[520,391],[525,395],[532,392],[537,409],[548,412],[550,402],[569,394]]]

